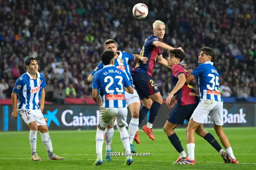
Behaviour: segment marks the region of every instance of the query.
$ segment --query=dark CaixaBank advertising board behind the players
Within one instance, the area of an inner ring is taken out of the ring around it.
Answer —
[[[44,118],[50,130],[90,130],[96,129],[100,115],[97,105],[45,105]],[[28,126],[21,117],[14,120],[11,117],[12,106],[0,106],[0,130],[19,131],[28,130]],[[154,122],[154,128],[163,128],[166,118],[171,110],[163,104]],[[128,112],[127,122],[130,122],[131,114]],[[146,124],[147,118],[142,125]],[[225,127],[251,127],[256,126],[255,103],[224,103],[223,122]],[[184,125],[179,127],[186,127]],[[207,118],[205,127],[212,127],[212,122]]]

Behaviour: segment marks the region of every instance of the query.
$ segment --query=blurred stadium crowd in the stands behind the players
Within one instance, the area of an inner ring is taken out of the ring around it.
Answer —
[[[144,20],[132,16],[139,2],[149,9]],[[200,47],[214,48],[223,97],[256,97],[255,0],[0,0],[0,99],[10,98],[28,56],[38,59],[47,101],[91,97],[87,76],[105,40],[139,54],[154,20],[166,23],[163,41],[184,49],[188,68],[197,66]],[[163,97],[172,89],[170,75],[155,65]]]

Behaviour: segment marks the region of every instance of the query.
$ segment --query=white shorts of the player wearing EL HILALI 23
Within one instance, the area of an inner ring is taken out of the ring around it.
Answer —
[[[128,126],[127,119],[127,107],[115,108],[115,107],[102,107],[99,117],[99,124],[102,128],[108,125],[114,125],[114,117],[116,116],[116,122],[120,126]]]

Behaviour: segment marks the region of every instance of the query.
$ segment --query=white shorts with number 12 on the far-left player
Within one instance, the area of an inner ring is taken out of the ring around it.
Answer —
[[[18,110],[20,117],[26,124],[29,124],[33,121],[36,121],[37,125],[46,125],[46,121],[44,119],[44,115],[40,109],[38,110],[30,110],[30,109],[22,109]]]

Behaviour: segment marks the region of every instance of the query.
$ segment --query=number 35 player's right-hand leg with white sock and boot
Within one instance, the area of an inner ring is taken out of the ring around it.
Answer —
[[[226,148],[226,151],[228,153],[228,156],[229,156],[229,159],[230,159],[231,163],[238,164],[238,160],[236,160],[236,157],[233,154],[233,150],[230,146],[228,137],[224,133],[224,130],[223,130],[222,126],[218,126],[215,123],[213,123],[213,127],[214,127],[214,130],[217,133],[218,137],[220,138],[220,141],[221,141],[222,145]]]

